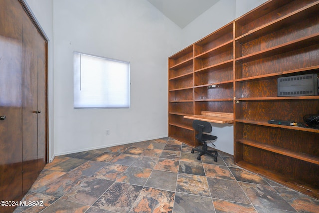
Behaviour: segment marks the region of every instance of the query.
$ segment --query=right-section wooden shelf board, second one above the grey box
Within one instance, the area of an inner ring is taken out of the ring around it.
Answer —
[[[236,58],[236,62],[248,62],[248,61],[253,61],[256,59],[259,59],[261,57],[268,57],[268,56],[272,56],[272,55],[276,55],[276,54],[281,54],[283,52],[288,52],[288,51],[292,51],[295,50],[296,48],[302,48],[305,45],[314,45],[319,41],[319,32],[309,35],[309,36],[305,36],[303,38],[300,39],[296,39],[294,41],[290,41],[278,46],[274,46],[259,52],[255,52],[249,55],[245,55],[242,57],[238,57]]]

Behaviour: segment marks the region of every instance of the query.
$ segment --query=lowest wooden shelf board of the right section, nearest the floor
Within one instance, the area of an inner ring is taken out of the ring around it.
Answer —
[[[304,193],[306,195],[319,199],[319,189],[314,189],[313,187],[309,186],[307,183],[296,182],[295,180],[291,180],[290,177],[288,176],[281,175],[277,172],[266,170],[262,167],[255,166],[246,161],[239,161],[236,163],[236,165],[244,169],[247,169],[249,171],[252,171],[254,173],[257,173],[261,176],[264,176],[268,179],[271,179],[291,189],[295,189],[301,193]]]

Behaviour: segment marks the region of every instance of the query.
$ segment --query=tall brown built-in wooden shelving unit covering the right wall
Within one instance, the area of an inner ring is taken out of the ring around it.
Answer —
[[[318,95],[277,96],[279,77],[319,74],[318,12],[269,0],[169,57],[169,136],[196,146],[192,119],[233,113],[238,166],[319,198],[319,130],[267,122],[318,114]]]

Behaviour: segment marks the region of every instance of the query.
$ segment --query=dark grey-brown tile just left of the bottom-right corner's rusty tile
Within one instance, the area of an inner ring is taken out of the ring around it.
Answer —
[[[273,209],[294,211],[294,209],[268,185],[239,182],[253,205]]]

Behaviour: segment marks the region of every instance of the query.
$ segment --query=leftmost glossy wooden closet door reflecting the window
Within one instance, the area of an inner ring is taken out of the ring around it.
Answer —
[[[0,0],[0,201],[22,198],[22,16],[17,0]],[[0,206],[0,212],[15,207]]]

